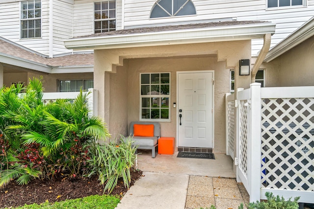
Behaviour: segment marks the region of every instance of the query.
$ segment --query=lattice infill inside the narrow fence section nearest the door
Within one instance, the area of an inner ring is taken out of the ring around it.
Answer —
[[[235,101],[228,102],[228,149],[235,153]]]

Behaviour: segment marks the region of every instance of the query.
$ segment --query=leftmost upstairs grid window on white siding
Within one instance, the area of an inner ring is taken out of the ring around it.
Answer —
[[[41,37],[41,1],[21,2],[21,39]]]

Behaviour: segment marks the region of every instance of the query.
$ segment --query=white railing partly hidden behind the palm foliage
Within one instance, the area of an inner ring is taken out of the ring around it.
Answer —
[[[87,95],[87,103],[89,107],[89,116],[98,115],[98,92],[96,89],[88,89],[89,94]],[[78,96],[79,92],[53,92],[53,93],[44,93],[43,102],[49,103],[53,102],[56,99],[75,99]]]

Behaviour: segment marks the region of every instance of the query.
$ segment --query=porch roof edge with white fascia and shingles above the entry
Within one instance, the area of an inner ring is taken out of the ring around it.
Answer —
[[[275,24],[259,21],[198,23],[111,31],[65,40],[69,49],[113,49],[263,38]]]

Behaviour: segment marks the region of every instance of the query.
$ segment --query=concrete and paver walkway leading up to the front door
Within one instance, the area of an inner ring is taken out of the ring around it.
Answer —
[[[237,209],[248,203],[243,185],[237,184],[229,156],[216,160],[184,159],[149,152],[138,156],[143,177],[131,186],[117,209]]]

